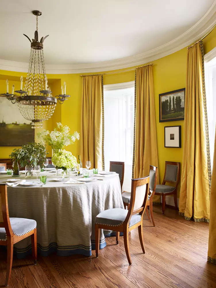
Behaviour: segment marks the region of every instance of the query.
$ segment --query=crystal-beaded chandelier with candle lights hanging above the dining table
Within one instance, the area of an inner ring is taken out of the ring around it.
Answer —
[[[66,83],[64,82],[64,94],[63,86],[61,86],[61,93],[58,96],[52,96],[52,92],[48,88],[48,80],[46,77],[44,57],[43,57],[43,41],[49,36],[41,37],[38,40],[38,16],[42,13],[34,10],[32,13],[37,17],[36,31],[34,39],[26,36],[31,42],[31,52],[29,59],[29,68],[26,77],[24,90],[22,90],[23,77],[20,80],[20,90],[16,90],[17,94],[14,94],[14,85],[12,87],[12,94],[8,93],[8,80],[6,81],[7,93],[0,96],[6,97],[13,104],[17,103],[18,108],[22,116],[31,121],[32,128],[41,128],[42,121],[51,118],[55,108],[57,100],[62,104],[70,95],[66,95]]]

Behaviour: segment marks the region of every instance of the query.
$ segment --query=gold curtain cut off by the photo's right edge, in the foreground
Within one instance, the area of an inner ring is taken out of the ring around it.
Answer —
[[[208,261],[216,264],[216,131],[211,184]]]

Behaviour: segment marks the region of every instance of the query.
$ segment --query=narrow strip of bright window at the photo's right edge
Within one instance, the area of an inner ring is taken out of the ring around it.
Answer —
[[[215,50],[215,49],[214,49]],[[210,56],[210,57],[209,57]],[[213,167],[215,123],[216,123],[216,52],[213,50],[204,56],[206,106],[209,125],[209,146],[211,168]]]

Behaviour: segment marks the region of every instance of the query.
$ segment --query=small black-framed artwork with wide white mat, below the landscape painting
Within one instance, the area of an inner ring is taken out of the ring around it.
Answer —
[[[181,126],[164,127],[164,147],[181,148]]]

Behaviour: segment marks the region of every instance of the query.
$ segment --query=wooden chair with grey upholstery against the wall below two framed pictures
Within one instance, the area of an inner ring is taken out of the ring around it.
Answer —
[[[165,162],[165,173],[162,185],[156,185],[155,195],[162,196],[162,213],[165,212],[166,196],[174,195],[175,208],[178,209],[177,203],[177,187],[180,179],[180,163],[179,162]],[[171,185],[165,185],[171,183]]]

